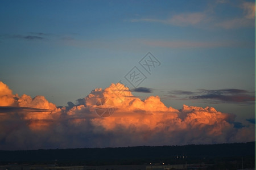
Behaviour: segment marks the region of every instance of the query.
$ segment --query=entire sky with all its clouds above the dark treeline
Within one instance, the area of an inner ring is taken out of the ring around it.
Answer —
[[[1,1],[0,150],[255,141],[255,1]]]

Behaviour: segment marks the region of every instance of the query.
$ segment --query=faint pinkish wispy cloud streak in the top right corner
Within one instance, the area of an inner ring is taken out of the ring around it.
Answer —
[[[233,29],[241,27],[255,27],[255,2],[242,2],[237,10],[243,10],[243,15],[229,19],[219,18],[216,13],[216,7],[231,4],[229,1],[220,0],[209,3],[208,8],[197,12],[184,12],[172,15],[170,18],[139,18],[131,19],[130,22],[150,22],[170,24],[178,27],[217,27],[224,29]]]

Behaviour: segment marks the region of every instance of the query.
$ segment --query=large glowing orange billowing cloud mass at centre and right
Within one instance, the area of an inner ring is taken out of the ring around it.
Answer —
[[[123,91],[118,91],[117,86],[121,87]],[[114,101],[115,112],[109,117],[90,119],[93,126],[102,128],[102,131],[106,131],[106,133],[120,131],[120,129],[132,130],[134,134],[142,133],[144,142],[155,138],[158,133],[172,137],[172,133],[183,130],[195,130],[193,131],[195,138],[200,138],[200,135],[215,138],[226,135],[225,131],[233,128],[233,125],[229,123],[234,121],[233,115],[218,112],[212,107],[201,108],[184,105],[180,111],[172,107],[167,108],[160,101],[160,97],[150,96],[142,101],[133,96],[129,89],[122,84],[112,84],[105,90],[92,91],[85,97],[86,107],[93,112],[97,100],[106,101],[108,99]],[[102,102],[102,105],[105,103]],[[108,108],[108,105],[104,108]],[[193,136],[189,140],[192,138]]]

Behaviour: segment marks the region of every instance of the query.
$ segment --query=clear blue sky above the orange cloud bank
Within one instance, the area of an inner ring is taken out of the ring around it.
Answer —
[[[151,52],[161,65],[135,96],[255,118],[254,1],[1,1],[0,20],[0,80],[14,94],[76,103]]]

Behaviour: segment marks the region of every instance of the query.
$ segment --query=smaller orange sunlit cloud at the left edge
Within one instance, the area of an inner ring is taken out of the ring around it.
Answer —
[[[28,95],[21,97],[13,95],[3,82],[0,82],[0,106],[20,108],[18,111],[20,118],[26,120],[32,130],[48,128],[56,113],[60,112],[60,109],[57,109],[55,104],[49,103],[44,96],[36,96],[32,99]]]

